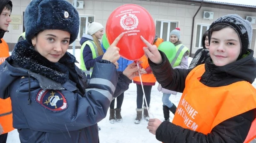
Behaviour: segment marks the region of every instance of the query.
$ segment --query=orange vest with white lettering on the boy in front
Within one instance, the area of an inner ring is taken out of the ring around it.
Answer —
[[[186,77],[185,89],[172,121],[174,124],[206,135],[221,122],[256,108],[256,89],[249,82],[207,87],[199,81],[204,72],[205,64],[202,64]],[[256,119],[244,143],[254,138]]]

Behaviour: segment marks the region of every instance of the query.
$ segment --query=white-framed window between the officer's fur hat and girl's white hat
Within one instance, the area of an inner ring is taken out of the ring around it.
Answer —
[[[87,33],[88,22],[94,21],[94,16],[80,15],[80,28],[77,39],[82,38],[83,33]]]

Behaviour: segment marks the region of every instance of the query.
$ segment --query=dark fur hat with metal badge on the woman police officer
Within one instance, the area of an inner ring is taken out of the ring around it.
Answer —
[[[42,30],[64,30],[70,33],[70,44],[75,41],[80,26],[79,14],[66,0],[32,0],[24,13],[26,40]]]

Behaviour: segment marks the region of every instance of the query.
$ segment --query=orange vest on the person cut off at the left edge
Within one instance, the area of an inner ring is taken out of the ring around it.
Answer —
[[[7,43],[3,39],[1,40],[2,43],[0,43],[0,64],[4,62],[8,56],[10,56]],[[10,97],[6,99],[0,98],[0,124],[4,130],[2,134],[14,130],[14,128],[12,127],[12,104]]]

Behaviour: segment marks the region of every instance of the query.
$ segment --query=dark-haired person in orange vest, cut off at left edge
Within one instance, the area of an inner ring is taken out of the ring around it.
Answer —
[[[10,18],[12,12],[12,1],[0,0],[0,64],[5,61],[9,55],[9,47],[3,36],[8,31],[8,26],[12,21]],[[0,99],[0,143],[5,143],[8,132],[12,131],[12,105],[10,97],[7,99]],[[1,129],[0,129],[1,130]]]

